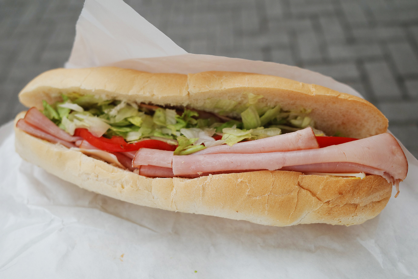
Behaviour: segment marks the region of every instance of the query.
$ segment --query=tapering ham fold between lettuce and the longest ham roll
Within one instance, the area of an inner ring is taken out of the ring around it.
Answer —
[[[261,138],[255,141],[235,143],[233,146],[221,145],[205,148],[191,155],[219,153],[265,153],[319,148],[311,127],[293,133]]]

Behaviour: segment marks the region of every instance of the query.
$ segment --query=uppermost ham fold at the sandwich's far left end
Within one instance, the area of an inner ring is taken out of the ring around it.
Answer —
[[[43,115],[37,108],[29,109],[24,119],[36,128],[64,141],[75,142],[82,139],[80,137],[70,136],[66,131],[59,128],[54,122]]]

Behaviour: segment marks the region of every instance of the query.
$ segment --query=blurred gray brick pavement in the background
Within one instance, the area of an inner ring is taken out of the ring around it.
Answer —
[[[0,124],[69,56],[81,0],[0,0]],[[418,157],[418,1],[127,1],[186,51],[306,67],[374,103]]]

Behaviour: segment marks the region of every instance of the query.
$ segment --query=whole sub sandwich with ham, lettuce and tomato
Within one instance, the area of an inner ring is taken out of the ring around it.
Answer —
[[[164,210],[274,226],[375,217],[408,163],[361,98],[261,74],[54,69],[23,88],[16,151]]]

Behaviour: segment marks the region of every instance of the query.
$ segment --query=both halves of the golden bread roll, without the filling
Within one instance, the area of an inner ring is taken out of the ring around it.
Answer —
[[[80,92],[118,100],[183,105],[208,110],[209,98],[244,104],[245,92],[283,109],[312,109],[311,118],[328,134],[364,138],[387,129],[387,119],[369,102],[325,87],[260,74],[204,72],[149,74],[129,69],[55,69],[33,79],[21,102],[42,108],[61,93]],[[335,109],[337,107],[337,109]],[[337,113],[335,113],[337,111]],[[23,118],[24,113],[16,120]],[[392,186],[384,178],[304,175],[294,171],[252,171],[195,179],[147,178],[81,152],[49,143],[15,128],[20,156],[89,191],[164,210],[214,215],[286,226],[307,223],[353,225],[375,217]]]

